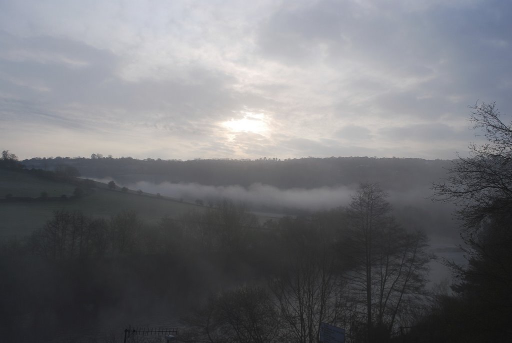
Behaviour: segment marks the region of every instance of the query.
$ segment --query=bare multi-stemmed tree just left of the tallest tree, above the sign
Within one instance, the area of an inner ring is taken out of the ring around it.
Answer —
[[[307,220],[285,219],[280,272],[269,287],[283,323],[282,341],[316,343],[321,323],[333,323],[344,310],[344,285],[332,246]]]

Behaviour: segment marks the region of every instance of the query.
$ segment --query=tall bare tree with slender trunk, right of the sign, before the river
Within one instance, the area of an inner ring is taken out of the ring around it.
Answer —
[[[421,304],[433,258],[423,233],[409,233],[395,222],[387,197],[379,185],[362,184],[349,205],[340,243],[353,266],[347,279],[362,305],[368,342],[389,339],[404,309]]]

